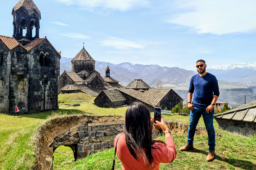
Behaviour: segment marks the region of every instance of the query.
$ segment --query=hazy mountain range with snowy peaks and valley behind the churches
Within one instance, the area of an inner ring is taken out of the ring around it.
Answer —
[[[73,58],[61,57],[60,74],[71,70]],[[119,84],[127,86],[134,79],[142,79],[150,87],[157,87],[161,80],[163,88],[172,88],[185,101],[187,100],[188,86],[196,69],[181,69],[178,67],[161,67],[159,65],[121,64],[108,63],[110,76],[119,81]],[[96,61],[95,70],[105,77],[107,62]],[[233,64],[229,66],[207,67],[207,72],[216,76],[220,85],[220,97],[218,101],[225,101],[229,106],[244,104],[256,100],[256,62]],[[244,82],[244,83],[242,83]]]

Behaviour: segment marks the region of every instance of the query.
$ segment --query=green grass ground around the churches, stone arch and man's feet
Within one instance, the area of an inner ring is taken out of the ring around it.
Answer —
[[[30,170],[35,166],[35,139],[37,137],[37,129],[43,125],[45,121],[49,121],[49,116],[54,118],[57,116],[81,115],[89,112],[92,115],[124,115],[127,107],[117,108],[98,108],[91,100],[80,102],[82,99],[94,99],[89,96],[76,94],[59,95],[64,103],[61,104],[77,104],[79,99],[80,107],[75,109],[66,109],[67,106],[53,112],[42,112],[36,114],[21,114],[21,118],[13,118],[13,115],[0,114],[0,169],[2,170]],[[81,97],[82,96],[82,97]],[[62,105],[62,106],[63,106]],[[61,106],[60,106],[61,107]],[[91,109],[96,108],[96,109]],[[96,110],[98,110],[96,112]],[[151,117],[153,114],[151,114]],[[171,115],[164,116],[165,120],[188,124],[189,117]],[[199,121],[199,126],[204,127],[203,119]],[[208,153],[208,137],[195,136],[194,149],[187,152],[179,151],[179,147],[186,143],[187,134],[173,134],[176,149],[178,151],[177,158],[173,163],[161,164],[161,170],[256,170],[256,137],[244,137],[239,134],[230,133],[219,130],[218,124],[214,120],[214,127],[225,137],[216,137],[216,156],[212,162],[207,162]],[[159,139],[164,140],[164,137]],[[69,147],[60,146],[55,152],[72,152]],[[109,149],[100,153],[89,155],[84,159],[71,162],[72,153],[54,153],[54,170],[109,170],[112,166],[114,149]],[[116,168],[121,170],[121,162],[116,159]]]

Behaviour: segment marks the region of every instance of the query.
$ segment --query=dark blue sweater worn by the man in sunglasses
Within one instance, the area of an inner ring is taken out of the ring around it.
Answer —
[[[190,80],[188,92],[194,93],[192,104],[195,107],[203,108],[209,106],[212,103],[213,95],[219,97],[218,80],[210,73],[206,73],[202,77],[196,74]]]

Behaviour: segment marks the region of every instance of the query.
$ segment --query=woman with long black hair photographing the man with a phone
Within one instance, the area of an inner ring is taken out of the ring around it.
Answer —
[[[166,143],[152,140],[152,121],[154,118],[150,119],[150,111],[142,103],[135,102],[126,110],[124,132],[114,141],[123,170],[159,170],[160,163],[171,163],[176,158],[175,144],[163,116],[154,125],[165,132]]]

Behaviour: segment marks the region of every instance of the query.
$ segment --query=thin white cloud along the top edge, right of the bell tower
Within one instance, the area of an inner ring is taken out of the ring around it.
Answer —
[[[134,7],[146,7],[148,0],[59,0],[67,5],[79,5],[86,8],[103,7],[106,9],[127,11]]]

